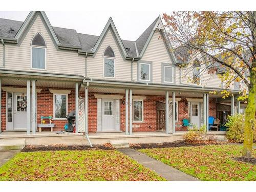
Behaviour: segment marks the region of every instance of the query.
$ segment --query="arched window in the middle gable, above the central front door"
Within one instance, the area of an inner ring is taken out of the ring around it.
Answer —
[[[108,46],[104,51],[104,72],[103,77],[115,78],[115,53]]]

